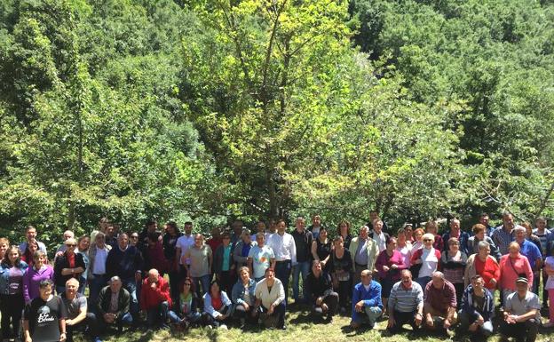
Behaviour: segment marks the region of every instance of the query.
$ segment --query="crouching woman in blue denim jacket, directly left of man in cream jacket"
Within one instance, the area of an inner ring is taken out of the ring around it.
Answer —
[[[256,322],[257,319],[257,311],[254,310],[256,282],[254,279],[250,279],[250,271],[247,266],[242,266],[239,274],[241,278],[234,283],[231,298],[233,299],[234,316],[241,320],[241,326],[243,326],[247,318],[250,322]]]

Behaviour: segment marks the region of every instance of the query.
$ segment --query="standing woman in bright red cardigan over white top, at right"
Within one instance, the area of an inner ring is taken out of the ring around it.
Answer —
[[[463,274],[464,286],[467,288],[473,275],[479,274],[485,282],[485,287],[491,291],[494,298],[496,286],[500,280],[500,267],[495,258],[490,256],[489,243],[486,241],[479,242],[478,251],[479,253],[471,254],[467,260],[465,273]]]

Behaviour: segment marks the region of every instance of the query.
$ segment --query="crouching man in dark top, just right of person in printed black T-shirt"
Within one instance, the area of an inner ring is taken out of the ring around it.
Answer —
[[[98,337],[96,315],[87,313],[86,297],[78,293],[77,290],[79,290],[79,281],[70,278],[66,282],[66,291],[61,294],[61,299],[67,308],[67,342],[73,342],[73,335],[76,330],[86,330],[95,342],[101,342]]]

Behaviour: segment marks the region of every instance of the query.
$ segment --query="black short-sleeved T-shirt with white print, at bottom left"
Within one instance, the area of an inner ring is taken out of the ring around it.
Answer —
[[[33,342],[59,341],[59,320],[66,317],[66,306],[58,296],[48,301],[38,297],[25,307],[24,318],[29,322]]]

